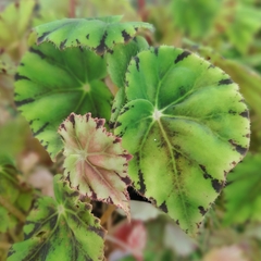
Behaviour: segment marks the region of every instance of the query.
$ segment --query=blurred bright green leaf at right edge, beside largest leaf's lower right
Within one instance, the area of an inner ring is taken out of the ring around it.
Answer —
[[[227,176],[225,195],[226,225],[261,221],[261,154],[248,154]]]

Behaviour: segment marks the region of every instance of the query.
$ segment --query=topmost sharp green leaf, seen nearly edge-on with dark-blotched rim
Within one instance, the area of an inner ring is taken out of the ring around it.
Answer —
[[[111,51],[116,44],[129,41],[139,28],[152,30],[142,22],[119,23],[122,16],[64,18],[35,27],[37,44],[51,41],[58,48],[88,47],[98,54]]]

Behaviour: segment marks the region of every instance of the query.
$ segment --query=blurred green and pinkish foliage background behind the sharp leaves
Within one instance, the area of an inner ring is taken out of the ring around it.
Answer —
[[[130,224],[117,212],[104,224],[109,260],[260,261],[260,0],[0,0],[0,220],[7,221],[0,225],[0,260],[5,260],[12,243],[23,238],[29,202],[41,194],[52,196],[52,176],[61,167],[32,137],[13,102],[14,74],[30,29],[62,17],[114,14],[153,24],[154,34],[145,34],[150,45],[191,50],[228,73],[250,109],[251,145],[246,159],[228,174],[197,238],[188,238],[152,207],[133,201]],[[23,202],[17,200],[20,194]],[[8,206],[3,204],[7,199]],[[112,211],[96,203],[94,212],[99,216]]]

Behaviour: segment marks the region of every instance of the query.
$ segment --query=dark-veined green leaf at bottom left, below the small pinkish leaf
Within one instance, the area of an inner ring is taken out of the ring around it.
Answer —
[[[55,200],[39,198],[24,226],[25,240],[14,244],[9,261],[103,260],[104,229],[61,175],[54,177]]]

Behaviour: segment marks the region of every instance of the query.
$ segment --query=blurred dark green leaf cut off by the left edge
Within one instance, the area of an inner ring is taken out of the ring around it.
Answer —
[[[23,224],[32,204],[33,190],[17,174],[13,162],[0,153],[0,233]]]

